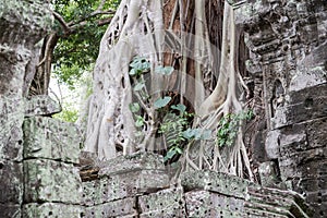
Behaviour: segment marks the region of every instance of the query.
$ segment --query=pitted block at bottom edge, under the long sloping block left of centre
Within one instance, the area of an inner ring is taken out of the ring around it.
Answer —
[[[101,205],[85,207],[85,215],[83,217],[137,217],[136,198],[128,197]]]

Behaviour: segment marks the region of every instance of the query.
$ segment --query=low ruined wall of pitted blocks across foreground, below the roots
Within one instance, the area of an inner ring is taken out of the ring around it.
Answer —
[[[21,186],[22,199],[11,208],[14,214],[4,214],[7,208],[0,217],[311,217],[301,195],[237,177],[193,171],[170,184],[159,155],[136,153],[108,161],[80,155],[78,130],[44,117],[55,112],[56,104],[46,107],[52,101],[35,98],[27,108],[37,113],[27,110],[23,124],[22,178],[5,181],[13,190]],[[12,171],[2,172],[10,177]]]

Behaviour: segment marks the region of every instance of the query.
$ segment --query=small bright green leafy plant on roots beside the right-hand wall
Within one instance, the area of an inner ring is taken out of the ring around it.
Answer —
[[[240,113],[229,113],[222,117],[218,124],[217,145],[219,147],[231,146],[238,135],[239,128],[242,121],[250,120],[253,117],[253,111],[242,111]]]

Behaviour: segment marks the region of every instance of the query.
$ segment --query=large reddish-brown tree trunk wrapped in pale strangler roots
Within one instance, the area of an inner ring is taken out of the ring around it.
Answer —
[[[199,116],[195,126],[217,131],[222,116],[242,110],[238,96],[242,81],[235,61],[238,40],[233,10],[222,1],[123,0],[100,45],[85,149],[107,159],[119,149],[124,154],[162,149],[162,138],[156,137],[162,114],[154,109],[154,102],[171,93],[177,94],[178,102]],[[129,75],[134,57],[146,58],[149,72],[140,77]],[[156,73],[161,65],[171,65],[175,71],[169,76]],[[142,80],[145,86],[133,90]],[[135,128],[129,109],[131,102],[142,107],[141,137],[135,136],[140,128]],[[225,149],[223,158],[217,146],[209,146],[214,157],[205,154],[204,147],[206,143],[189,144],[184,153],[186,168],[209,168],[241,177],[245,168],[251,177],[241,133],[235,146]],[[195,156],[193,160],[191,156]]]

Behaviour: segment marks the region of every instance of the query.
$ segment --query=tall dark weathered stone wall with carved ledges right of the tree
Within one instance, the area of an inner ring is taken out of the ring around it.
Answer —
[[[265,108],[266,129],[256,145],[265,147],[262,182],[303,194],[314,217],[327,217],[327,3],[233,4],[251,51],[247,70]]]

